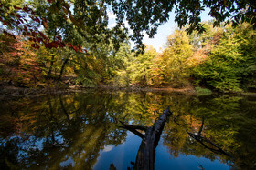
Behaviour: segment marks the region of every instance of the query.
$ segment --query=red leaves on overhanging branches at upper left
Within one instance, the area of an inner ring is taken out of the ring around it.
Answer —
[[[48,0],[48,3],[53,3],[56,2],[56,0]],[[66,3],[63,0],[59,0],[59,3],[61,4],[61,8],[63,10],[63,17],[68,20],[67,16],[69,19],[75,23],[76,25],[79,25],[79,21],[75,19],[74,15],[71,15],[70,13],[70,5]],[[2,5],[2,4],[1,4]],[[30,41],[32,41],[32,47],[33,48],[39,48],[40,45],[45,45],[46,48],[63,48],[67,46],[65,43],[62,42],[61,37],[56,36],[54,38],[55,41],[50,41],[48,38],[48,35],[45,35],[44,33],[40,32],[36,26],[34,25],[29,25],[27,21],[27,17],[29,17],[29,22],[31,23],[36,23],[39,25],[43,25],[45,30],[48,30],[48,18],[47,17],[40,17],[35,14],[33,9],[29,8],[28,6],[25,7],[19,7],[16,5],[2,5],[2,7],[9,9],[9,6],[13,6],[13,8],[16,11],[13,11],[10,14],[10,17],[7,18],[5,16],[0,16],[0,22],[2,22],[3,25],[12,25],[19,30],[22,35],[27,36]],[[2,13],[2,11],[1,11]],[[30,19],[31,18],[31,19]],[[4,31],[5,35],[10,35],[14,38],[15,35],[11,35]],[[75,46],[72,45],[71,43],[68,44],[71,49],[73,49],[77,53],[83,53],[84,51],[87,53],[86,50],[83,50],[81,46]]]

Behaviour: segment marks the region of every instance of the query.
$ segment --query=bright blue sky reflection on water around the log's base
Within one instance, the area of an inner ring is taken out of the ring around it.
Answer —
[[[127,132],[126,142],[117,145],[106,145],[100,152],[96,165],[93,169],[109,169],[113,164],[116,169],[127,169],[131,167],[131,161],[135,162],[136,155],[141,145],[141,138],[133,135],[131,132]],[[226,170],[229,169],[228,165],[220,163],[218,160],[211,161],[204,157],[197,157],[194,155],[179,154],[178,157],[172,157],[167,150],[167,147],[161,145],[156,147],[155,151],[155,169],[167,170],[198,170],[200,165],[207,170]]]

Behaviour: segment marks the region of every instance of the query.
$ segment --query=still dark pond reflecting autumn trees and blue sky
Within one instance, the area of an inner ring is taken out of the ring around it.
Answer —
[[[155,169],[256,168],[255,96],[96,91],[1,101],[0,168],[134,169],[142,138],[121,122],[153,126],[168,105]]]

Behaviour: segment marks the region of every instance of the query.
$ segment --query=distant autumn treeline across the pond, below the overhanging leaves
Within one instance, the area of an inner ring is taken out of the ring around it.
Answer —
[[[128,39],[115,50],[113,42],[84,44],[87,53],[69,46],[39,49],[27,38],[1,33],[2,85],[48,87],[65,85],[203,86],[221,92],[256,89],[255,30],[246,23],[213,27],[187,35],[184,29],[168,36],[158,53],[147,46],[143,55],[131,51]],[[114,37],[112,37],[114,41]]]

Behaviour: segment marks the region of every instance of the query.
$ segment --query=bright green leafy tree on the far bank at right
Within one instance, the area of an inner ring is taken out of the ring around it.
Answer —
[[[243,47],[248,35],[243,34],[239,27],[233,29],[226,26],[225,31],[219,45],[213,47],[208,60],[194,68],[194,75],[200,85],[209,85],[222,92],[241,92],[241,87],[244,87],[245,80],[249,72],[251,73],[248,66],[255,65],[250,62],[249,55],[245,54],[255,53],[253,52],[255,50],[250,48],[250,52],[244,51]]]

